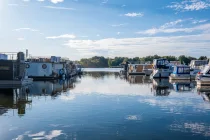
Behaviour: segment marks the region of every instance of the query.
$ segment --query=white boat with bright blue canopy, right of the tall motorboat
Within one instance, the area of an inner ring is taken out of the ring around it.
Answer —
[[[170,80],[191,80],[190,66],[177,65],[173,66],[173,72],[169,76]]]

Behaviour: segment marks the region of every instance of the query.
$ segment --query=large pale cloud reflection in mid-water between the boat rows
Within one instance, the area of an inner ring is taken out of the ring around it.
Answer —
[[[133,85],[125,80],[115,79],[115,77],[104,76],[103,79],[93,79],[92,77],[84,77],[80,84],[71,91],[73,94],[103,94],[103,95],[151,95],[152,84]]]

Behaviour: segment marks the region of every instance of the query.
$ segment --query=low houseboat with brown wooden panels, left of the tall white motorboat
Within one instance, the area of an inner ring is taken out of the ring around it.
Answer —
[[[147,75],[152,74],[151,64],[129,64],[128,75]]]

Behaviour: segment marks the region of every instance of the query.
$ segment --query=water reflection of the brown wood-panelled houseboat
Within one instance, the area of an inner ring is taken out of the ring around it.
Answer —
[[[131,84],[147,84],[152,83],[152,80],[148,76],[134,76],[129,75],[128,81]]]

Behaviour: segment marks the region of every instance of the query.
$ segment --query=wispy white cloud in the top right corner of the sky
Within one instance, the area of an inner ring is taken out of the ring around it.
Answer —
[[[176,11],[198,11],[208,9],[210,7],[209,0],[183,0],[182,2],[173,2],[172,5],[168,5],[168,8]]]

